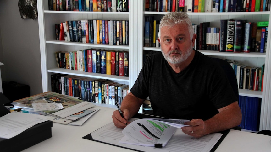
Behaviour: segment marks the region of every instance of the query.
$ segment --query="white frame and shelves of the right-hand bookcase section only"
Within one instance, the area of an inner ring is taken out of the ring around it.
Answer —
[[[167,12],[149,12],[144,10],[144,2],[140,2],[139,4],[141,11],[138,14],[141,14],[141,21],[139,23],[140,26],[143,27],[141,30],[140,37],[144,37],[144,18],[145,16],[154,16],[155,20],[159,20],[165,13]],[[222,13],[188,13],[192,23],[200,24],[202,22],[210,22],[210,27],[219,27],[220,20],[222,19],[241,19],[241,20],[248,20],[249,22],[258,22],[258,21],[271,21],[270,11],[266,12],[222,12]],[[144,39],[141,40],[142,43]],[[211,51],[211,50],[199,50],[205,55],[211,57],[218,57],[223,59],[230,59],[236,60],[241,62],[244,65],[248,66],[258,66],[261,67],[265,64],[265,73],[264,73],[264,84],[263,84],[263,92],[261,91],[252,91],[246,89],[239,89],[239,95],[241,96],[248,96],[248,97],[258,97],[262,98],[261,104],[261,114],[260,114],[260,130],[270,130],[271,129],[271,99],[269,94],[271,93],[270,88],[270,32],[268,32],[268,40],[267,40],[267,52],[266,53],[229,53],[229,52],[219,52],[219,51]],[[155,47],[144,47],[140,45],[140,55],[143,55],[144,50],[153,50],[153,51],[161,51],[160,48]],[[140,63],[143,64],[143,63]]]

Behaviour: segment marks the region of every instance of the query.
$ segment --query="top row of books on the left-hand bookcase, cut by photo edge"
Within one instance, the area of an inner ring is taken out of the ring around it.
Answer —
[[[48,0],[50,11],[129,12],[129,0]]]

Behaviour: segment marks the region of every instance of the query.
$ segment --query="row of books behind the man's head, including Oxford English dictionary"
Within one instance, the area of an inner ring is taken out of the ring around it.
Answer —
[[[159,21],[153,16],[145,17],[144,46],[160,47],[158,42]],[[197,34],[196,50],[219,50],[221,52],[261,52],[267,50],[269,22],[246,20],[220,20],[220,28],[210,27],[210,22],[193,25]]]

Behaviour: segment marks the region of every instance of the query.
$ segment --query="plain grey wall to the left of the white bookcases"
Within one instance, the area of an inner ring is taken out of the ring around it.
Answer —
[[[30,95],[42,93],[38,19],[22,19],[18,1],[0,1],[0,62],[2,81],[29,85]]]

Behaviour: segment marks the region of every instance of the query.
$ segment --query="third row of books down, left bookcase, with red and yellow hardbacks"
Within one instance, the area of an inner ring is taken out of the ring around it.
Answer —
[[[107,75],[129,76],[129,52],[86,49],[55,52],[58,68]]]

